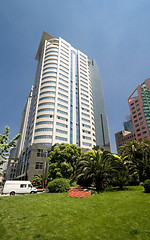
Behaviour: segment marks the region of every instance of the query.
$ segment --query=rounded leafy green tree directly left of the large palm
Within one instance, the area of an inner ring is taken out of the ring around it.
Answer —
[[[62,143],[54,147],[49,161],[49,178],[70,178],[75,170],[76,162],[83,154],[80,147],[75,144]]]

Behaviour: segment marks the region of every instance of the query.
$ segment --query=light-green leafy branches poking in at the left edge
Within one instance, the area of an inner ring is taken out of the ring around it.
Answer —
[[[17,134],[15,138],[13,138],[13,140],[9,141],[9,127],[6,126],[5,127],[5,131],[4,134],[1,135],[0,134],[0,165],[3,164],[4,160],[7,158],[7,156],[9,155],[9,149],[11,147],[15,147],[16,146],[16,142],[18,141],[18,139],[21,137],[20,134]],[[4,159],[4,160],[2,160]]]

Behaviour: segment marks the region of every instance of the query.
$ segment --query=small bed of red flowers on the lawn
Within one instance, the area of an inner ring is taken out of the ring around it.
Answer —
[[[91,195],[91,192],[82,188],[71,188],[68,195],[72,198],[84,198]]]

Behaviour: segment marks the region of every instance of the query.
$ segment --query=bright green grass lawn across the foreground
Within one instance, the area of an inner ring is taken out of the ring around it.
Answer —
[[[0,239],[149,240],[150,194],[143,190],[0,197]]]

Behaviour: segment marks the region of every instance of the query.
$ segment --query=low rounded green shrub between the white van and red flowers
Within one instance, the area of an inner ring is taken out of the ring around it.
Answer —
[[[49,182],[47,188],[51,193],[67,192],[70,189],[70,184],[67,179],[58,178]]]

